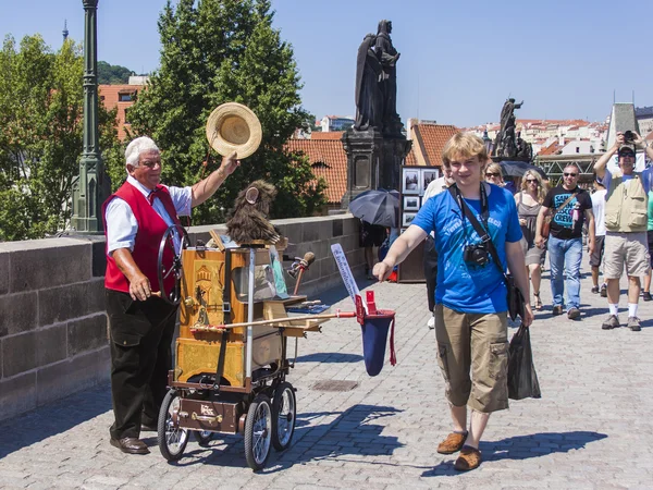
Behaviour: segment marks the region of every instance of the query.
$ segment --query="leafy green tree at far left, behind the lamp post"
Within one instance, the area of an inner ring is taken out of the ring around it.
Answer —
[[[38,35],[24,37],[20,48],[12,37],[4,39],[0,241],[42,237],[69,222],[83,146],[83,63],[82,48],[72,40],[52,52]],[[115,113],[100,110],[101,140],[110,147],[118,146],[114,119]]]

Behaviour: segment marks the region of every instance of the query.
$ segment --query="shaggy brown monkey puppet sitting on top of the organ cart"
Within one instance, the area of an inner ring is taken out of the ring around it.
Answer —
[[[279,241],[279,232],[268,221],[270,205],[275,196],[276,187],[266,181],[255,181],[238,193],[226,222],[227,233],[234,242],[248,244],[255,240],[270,243]]]

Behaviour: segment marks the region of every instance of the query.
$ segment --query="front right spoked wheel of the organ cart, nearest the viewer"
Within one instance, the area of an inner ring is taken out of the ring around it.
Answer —
[[[272,408],[270,399],[258,394],[247,411],[245,420],[245,457],[255,471],[266,466],[270,455],[270,439],[272,438]]]

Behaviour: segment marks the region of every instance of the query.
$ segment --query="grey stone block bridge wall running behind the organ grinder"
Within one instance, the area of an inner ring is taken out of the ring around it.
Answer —
[[[303,294],[342,284],[333,243],[362,272],[350,215],[273,223],[295,244],[288,254],[316,254]],[[192,243],[208,242],[212,228],[190,228]],[[103,236],[0,243],[0,420],[109,379],[104,266]]]

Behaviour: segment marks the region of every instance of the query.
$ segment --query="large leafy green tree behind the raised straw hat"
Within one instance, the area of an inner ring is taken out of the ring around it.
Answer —
[[[162,149],[163,179],[188,185],[217,168],[208,154],[206,121],[220,103],[236,101],[259,118],[263,140],[219,189],[196,208],[196,223],[224,220],[236,194],[266,179],[279,188],[273,218],[307,216],[325,204],[325,183],[306,158],[284,150],[297,127],[315,120],[301,108],[292,47],[272,27],[268,0],[171,1],[159,17],[161,66],[131,109],[132,128]],[[220,157],[215,157],[218,160]]]

